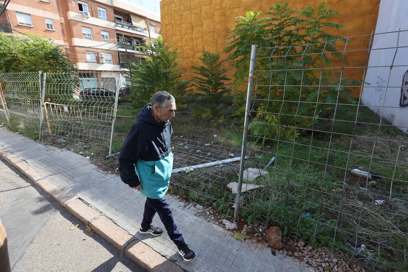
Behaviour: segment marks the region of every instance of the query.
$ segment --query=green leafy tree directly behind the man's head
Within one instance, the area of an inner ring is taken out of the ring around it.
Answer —
[[[189,81],[182,80],[185,74],[180,72],[177,59],[181,52],[166,46],[162,37],[141,48],[147,55],[145,61],[133,62],[127,65],[131,76],[131,95],[129,99],[136,109],[142,108],[153,94],[167,91],[175,98],[180,97],[190,87]]]

